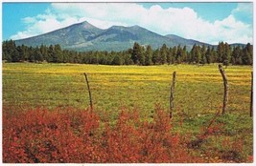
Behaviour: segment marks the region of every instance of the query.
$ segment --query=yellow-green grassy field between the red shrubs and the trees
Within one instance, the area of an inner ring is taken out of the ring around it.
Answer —
[[[169,108],[172,73],[176,72],[174,122],[182,118],[180,134],[197,135],[220,109],[223,83],[217,64],[171,66],[102,66],[78,64],[3,64],[3,107],[87,108],[88,74],[96,112],[115,122],[120,108],[138,110],[141,119],[151,119],[155,104]],[[252,155],[252,118],[249,117],[251,66],[225,69],[229,83],[227,114],[217,118],[223,135],[211,136],[202,147],[221,150],[221,141],[243,140],[243,156]]]

